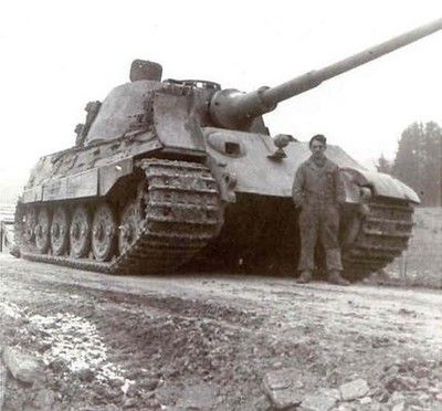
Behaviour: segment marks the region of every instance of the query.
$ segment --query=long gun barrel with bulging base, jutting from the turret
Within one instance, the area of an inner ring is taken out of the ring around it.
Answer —
[[[210,104],[211,116],[221,127],[246,129],[255,117],[273,110],[277,103],[314,88],[325,80],[348,72],[371,60],[379,59],[441,29],[442,19],[434,20],[431,23],[323,68],[299,75],[275,87],[264,86],[251,93],[242,93],[232,88],[220,91],[212,97]]]

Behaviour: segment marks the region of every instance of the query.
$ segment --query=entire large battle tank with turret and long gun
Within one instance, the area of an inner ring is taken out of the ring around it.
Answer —
[[[262,115],[441,28],[442,19],[251,93],[210,81],[161,81],[161,65],[134,61],[129,83],[87,104],[75,145],[32,169],[15,213],[21,256],[109,274],[183,266],[295,273],[292,185],[308,144],[272,136]],[[346,189],[344,275],[358,281],[407,249],[420,200],[337,146],[328,146],[327,157],[339,166]],[[317,273],[322,255],[319,245]]]

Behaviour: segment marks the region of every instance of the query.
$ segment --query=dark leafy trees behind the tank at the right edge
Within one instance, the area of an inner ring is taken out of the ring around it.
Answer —
[[[423,205],[442,205],[441,126],[434,122],[411,124],[401,134],[394,160],[381,155],[376,167],[410,186]]]

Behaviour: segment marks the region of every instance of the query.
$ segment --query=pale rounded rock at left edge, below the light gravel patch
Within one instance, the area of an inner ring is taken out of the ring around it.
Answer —
[[[43,379],[43,363],[35,357],[17,348],[4,347],[3,361],[13,378],[22,382],[34,383]]]

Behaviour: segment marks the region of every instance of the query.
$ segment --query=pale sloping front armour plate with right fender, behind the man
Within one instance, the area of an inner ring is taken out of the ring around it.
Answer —
[[[229,177],[230,190],[235,193],[291,197],[294,175],[311,156],[308,144],[296,141],[284,148],[286,158],[275,161],[267,157],[276,148],[266,135],[208,127],[204,136],[208,152],[223,169],[224,180]],[[375,196],[420,202],[411,188],[391,176],[368,171],[337,146],[327,147],[327,157],[341,169],[348,202],[359,199],[355,185],[370,187]],[[225,186],[224,180],[219,183]]]

